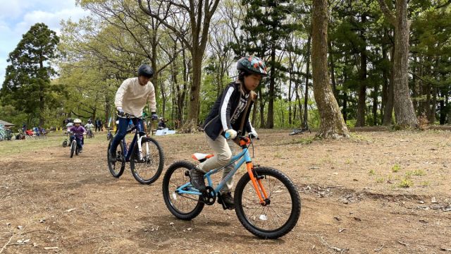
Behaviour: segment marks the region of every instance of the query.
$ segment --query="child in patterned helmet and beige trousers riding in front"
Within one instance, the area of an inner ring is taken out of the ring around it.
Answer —
[[[257,138],[257,132],[249,121],[250,108],[255,90],[261,78],[267,75],[266,65],[256,56],[245,56],[237,61],[238,78],[230,83],[224,90],[221,97],[218,97],[214,107],[205,119],[204,131],[206,141],[214,151],[214,157],[198,164],[190,170],[191,184],[199,191],[205,191],[204,174],[211,169],[224,167],[230,163],[236,145],[233,139],[237,132],[244,135],[245,131],[249,135]],[[249,103],[249,106],[247,104]],[[243,124],[245,123],[245,124]],[[225,138],[228,134],[228,140]],[[233,170],[235,163],[228,165],[223,170],[223,178]],[[220,191],[221,198],[218,199],[228,209],[234,209],[232,194],[233,178],[226,183]]]

